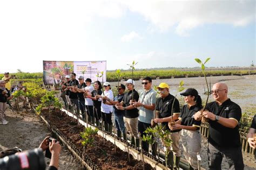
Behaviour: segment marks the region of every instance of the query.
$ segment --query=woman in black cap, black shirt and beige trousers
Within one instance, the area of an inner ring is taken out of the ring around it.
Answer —
[[[197,153],[201,151],[201,121],[194,119],[194,114],[201,110],[202,100],[198,95],[198,91],[193,88],[187,89],[180,95],[184,96],[184,101],[187,103],[181,109],[179,121],[171,126],[171,130],[182,129],[181,140],[184,150],[184,156],[189,163],[190,169],[197,169]]]

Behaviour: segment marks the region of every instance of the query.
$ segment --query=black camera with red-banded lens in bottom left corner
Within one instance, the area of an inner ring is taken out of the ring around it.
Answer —
[[[41,148],[13,154],[0,159],[1,170],[39,169],[46,168]]]

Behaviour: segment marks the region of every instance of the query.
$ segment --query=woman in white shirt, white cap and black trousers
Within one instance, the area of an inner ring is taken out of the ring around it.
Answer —
[[[112,133],[113,123],[111,117],[113,107],[112,105],[105,104],[106,99],[104,98],[104,96],[107,96],[107,100],[113,100],[114,96],[109,82],[105,82],[103,86],[105,89],[104,93],[102,94],[102,96],[98,95],[97,97],[103,98],[102,107],[100,107],[100,109],[102,111],[102,119],[104,122],[105,131]]]

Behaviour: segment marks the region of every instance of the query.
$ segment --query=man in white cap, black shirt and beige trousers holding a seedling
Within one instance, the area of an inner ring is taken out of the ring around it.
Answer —
[[[134,85],[135,85],[134,80],[128,79],[126,81],[126,88],[129,91],[127,91],[124,94],[123,101],[121,102],[120,105],[116,105],[116,108],[118,110],[125,110],[124,122],[125,122],[127,130],[131,134],[131,144],[139,147],[139,135],[138,135],[139,134],[139,132],[138,132],[139,110],[137,108],[134,108],[132,105],[132,102],[139,101],[139,94],[134,89]],[[133,93],[132,93],[132,91],[133,91]],[[134,101],[132,101],[132,98]]]

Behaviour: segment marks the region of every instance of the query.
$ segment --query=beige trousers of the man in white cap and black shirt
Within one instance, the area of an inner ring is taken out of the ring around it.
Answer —
[[[124,117],[124,123],[126,125],[127,131],[130,132],[130,134],[135,137],[136,139],[139,139],[139,133],[138,133],[138,118],[126,118]]]

